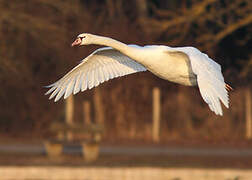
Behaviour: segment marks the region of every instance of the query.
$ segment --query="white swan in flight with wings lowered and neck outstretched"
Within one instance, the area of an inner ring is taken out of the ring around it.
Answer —
[[[127,45],[109,37],[79,34],[72,46],[96,44],[99,48],[64,77],[47,86],[55,102],[63,95],[85,91],[120,76],[150,71],[156,76],[186,86],[198,86],[203,100],[216,115],[223,115],[221,103],[229,108],[228,91],[221,66],[194,47]]]

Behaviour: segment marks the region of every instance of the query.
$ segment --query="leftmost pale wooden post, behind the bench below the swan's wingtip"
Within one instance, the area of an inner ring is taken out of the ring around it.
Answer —
[[[73,95],[70,95],[66,99],[66,124],[73,124],[73,112],[74,112],[74,98]],[[67,132],[67,140],[72,140],[73,134],[72,132]]]

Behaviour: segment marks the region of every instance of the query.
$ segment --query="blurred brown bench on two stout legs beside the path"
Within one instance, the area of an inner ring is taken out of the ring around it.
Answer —
[[[95,161],[99,156],[99,143],[104,127],[99,124],[74,123],[66,124],[65,122],[53,122],[50,126],[50,131],[57,134],[57,138],[45,141],[45,149],[49,157],[60,157],[63,154],[64,145],[82,146],[82,154],[87,162]],[[84,134],[86,138],[75,138],[74,136],[69,139],[68,133]]]

